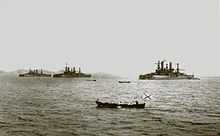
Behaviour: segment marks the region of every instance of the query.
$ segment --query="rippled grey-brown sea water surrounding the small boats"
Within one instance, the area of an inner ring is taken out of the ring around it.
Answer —
[[[0,136],[220,135],[220,78],[117,81],[0,76]],[[145,109],[96,108],[144,93]]]

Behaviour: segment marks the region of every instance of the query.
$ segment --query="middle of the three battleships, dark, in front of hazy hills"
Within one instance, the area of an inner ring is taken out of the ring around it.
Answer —
[[[65,66],[64,72],[59,74],[54,74],[55,78],[80,78],[80,77],[91,77],[91,74],[85,74],[81,72],[81,68],[79,68],[78,72],[75,67],[70,68],[69,66]]]

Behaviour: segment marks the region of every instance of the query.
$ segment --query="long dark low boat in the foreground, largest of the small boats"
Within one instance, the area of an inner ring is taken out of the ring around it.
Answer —
[[[107,103],[96,101],[97,108],[144,108],[145,103],[138,103],[136,101],[135,104],[117,104],[117,103]]]

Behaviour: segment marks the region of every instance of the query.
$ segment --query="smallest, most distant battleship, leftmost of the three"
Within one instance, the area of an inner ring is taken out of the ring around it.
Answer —
[[[18,76],[19,77],[51,77],[51,74],[43,73],[42,69],[40,69],[40,70],[38,70],[38,69],[34,69],[34,70],[29,69],[29,71],[27,73],[19,74]]]

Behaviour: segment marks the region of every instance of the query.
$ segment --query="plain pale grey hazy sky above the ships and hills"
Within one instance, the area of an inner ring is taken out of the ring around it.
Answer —
[[[138,76],[158,59],[220,75],[217,0],[0,0],[0,69]]]

